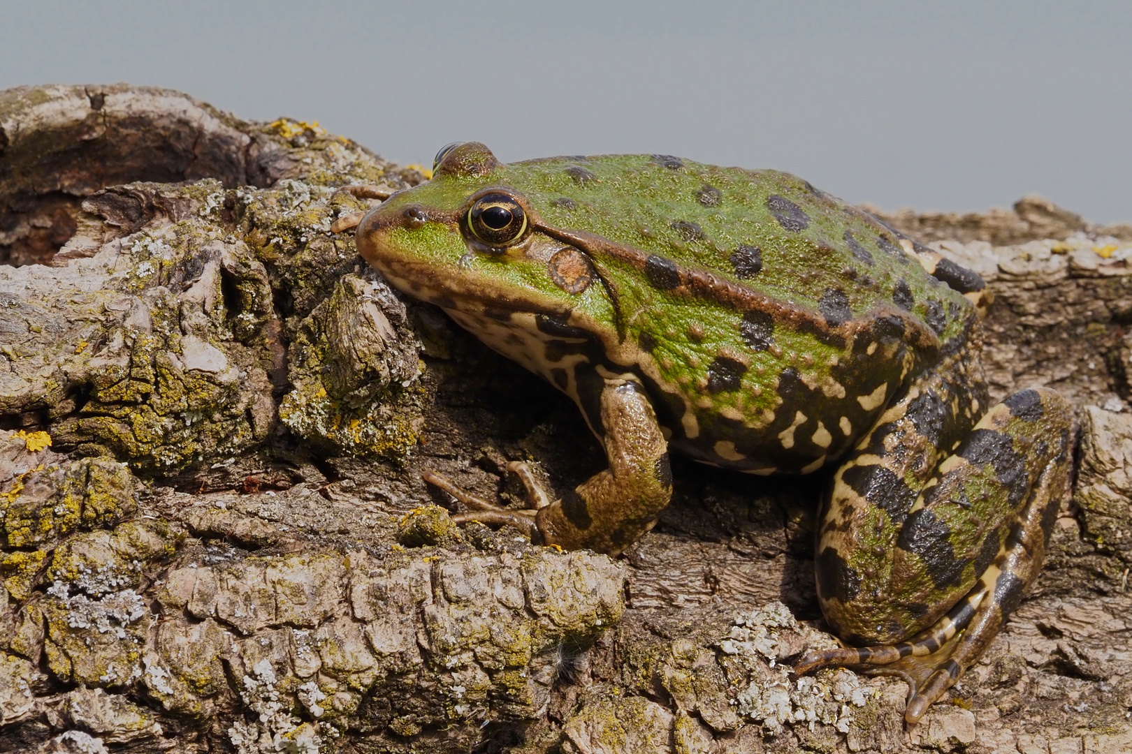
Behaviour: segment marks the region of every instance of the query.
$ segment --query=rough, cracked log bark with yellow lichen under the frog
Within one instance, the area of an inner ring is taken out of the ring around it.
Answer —
[[[0,751],[1132,749],[1132,233],[885,217],[990,284],[996,396],[1081,426],[1038,583],[907,729],[902,682],[789,673],[833,643],[820,479],[677,462],[618,560],[452,523],[422,470],[506,501],[508,460],[561,492],[603,459],[331,233],[338,187],[422,179],[178,93],[0,93]]]

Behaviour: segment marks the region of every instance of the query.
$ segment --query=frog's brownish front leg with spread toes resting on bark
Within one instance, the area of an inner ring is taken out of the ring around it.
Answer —
[[[515,463],[508,470],[520,474],[533,510],[499,508],[462,493],[437,475],[426,480],[475,509],[453,515],[456,522],[511,523],[532,535],[537,531],[547,545],[616,555],[657,523],[672,495],[672,473],[668,443],[634,375],[604,378],[599,405],[600,416],[589,418],[600,433],[609,468],[561,500],[547,503],[534,479],[524,475],[525,467]]]

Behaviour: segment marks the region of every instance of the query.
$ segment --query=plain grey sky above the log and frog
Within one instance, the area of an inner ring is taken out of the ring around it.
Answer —
[[[401,163],[640,151],[1132,222],[1132,2],[0,0],[0,88],[130,81]]]

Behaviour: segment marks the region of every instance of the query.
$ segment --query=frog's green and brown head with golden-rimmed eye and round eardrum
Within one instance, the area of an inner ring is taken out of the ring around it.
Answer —
[[[594,279],[482,144],[444,147],[432,180],[362,219],[358,250],[389,283],[445,309],[563,313]]]

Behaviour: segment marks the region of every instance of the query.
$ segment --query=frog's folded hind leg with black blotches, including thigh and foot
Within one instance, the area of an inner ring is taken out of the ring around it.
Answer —
[[[1047,389],[993,407],[919,485],[935,441],[962,424],[959,401],[947,400],[955,390],[914,388],[835,475],[818,534],[818,596],[834,630],[864,647],[811,652],[796,667],[900,675],[912,723],[1018,606],[1067,488],[1070,411]]]

